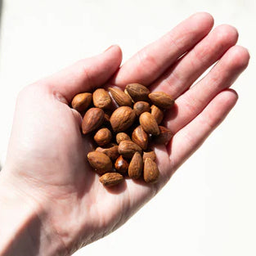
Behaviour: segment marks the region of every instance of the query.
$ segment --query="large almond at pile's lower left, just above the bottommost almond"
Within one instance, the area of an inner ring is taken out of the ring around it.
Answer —
[[[111,159],[97,151],[92,151],[88,153],[88,162],[92,166],[92,168],[95,170],[98,174],[104,174],[109,172],[112,169],[112,162]]]

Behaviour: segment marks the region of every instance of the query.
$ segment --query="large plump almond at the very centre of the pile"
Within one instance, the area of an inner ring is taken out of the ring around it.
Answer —
[[[110,117],[110,124],[114,132],[124,132],[132,126],[136,114],[129,106],[120,106]]]

